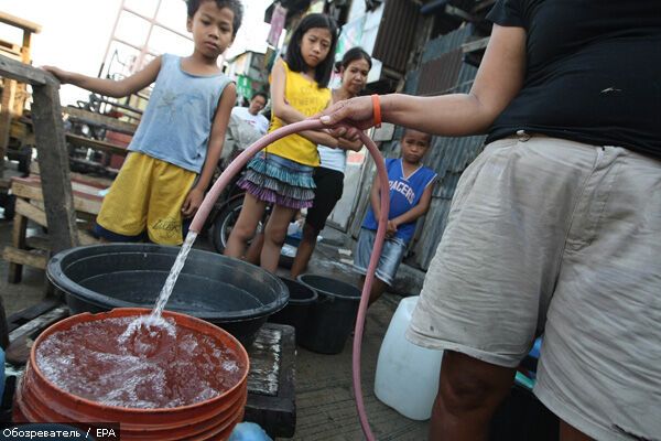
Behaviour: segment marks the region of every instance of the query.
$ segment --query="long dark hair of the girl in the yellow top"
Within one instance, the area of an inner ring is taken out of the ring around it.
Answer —
[[[305,15],[290,39],[284,60],[289,67],[294,72],[307,69],[308,66],[305,63],[305,60],[303,60],[303,55],[301,55],[301,41],[303,40],[303,35],[314,28],[327,29],[330,32],[330,47],[328,47],[328,55],[326,55],[326,58],[314,69],[314,80],[319,87],[326,87],[328,86],[328,80],[330,80],[333,57],[335,54],[335,45],[337,44],[337,24],[335,24],[335,19],[332,17],[321,13]]]

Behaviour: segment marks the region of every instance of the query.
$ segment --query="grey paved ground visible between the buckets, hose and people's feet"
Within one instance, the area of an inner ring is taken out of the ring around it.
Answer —
[[[0,208],[0,249],[11,240],[12,223],[2,219]],[[347,265],[349,256],[338,249],[350,249],[343,244],[343,235],[329,228],[322,232],[324,240],[317,247],[308,272],[337,277],[356,282],[357,277]],[[206,248],[205,238],[196,247]],[[0,259],[0,294],[7,314],[39,303],[45,292],[44,271],[24,268],[23,281],[7,282],[7,261]],[[373,394],[377,356],[390,319],[401,298],[387,293],[369,311],[362,343],[362,388],[367,415],[379,440],[426,439],[427,422],[404,418],[380,402]],[[294,440],[361,440],[364,439],[353,398],[351,340],[337,355],[322,355],[297,348],[295,362],[297,423]]]

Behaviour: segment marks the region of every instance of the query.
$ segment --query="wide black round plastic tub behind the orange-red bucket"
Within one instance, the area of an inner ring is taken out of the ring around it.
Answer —
[[[53,256],[46,273],[72,313],[153,308],[178,250],[153,244],[77,247]],[[192,249],[165,309],[206,320],[250,345],[288,300],[286,286],[270,272]]]

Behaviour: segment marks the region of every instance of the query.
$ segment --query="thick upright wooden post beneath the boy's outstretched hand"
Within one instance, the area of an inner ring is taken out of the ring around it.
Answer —
[[[78,245],[68,149],[64,140],[58,83],[33,86],[32,121],[53,252]],[[44,148],[48,146],[48,148]]]

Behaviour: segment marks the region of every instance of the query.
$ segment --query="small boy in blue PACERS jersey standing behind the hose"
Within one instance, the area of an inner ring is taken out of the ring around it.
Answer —
[[[371,287],[369,304],[372,304],[388,287],[392,284],[407,247],[420,216],[424,215],[432,202],[432,187],[436,172],[422,165],[432,137],[429,133],[405,129],[401,138],[401,158],[386,159],[386,170],[390,186],[390,209],[388,212],[388,229],[386,241],[377,266],[377,273]],[[375,247],[379,213],[381,207],[380,183],[378,179],[370,192],[370,205],[356,245],[354,269],[360,272],[360,288],[365,283],[365,275],[369,258]]]

